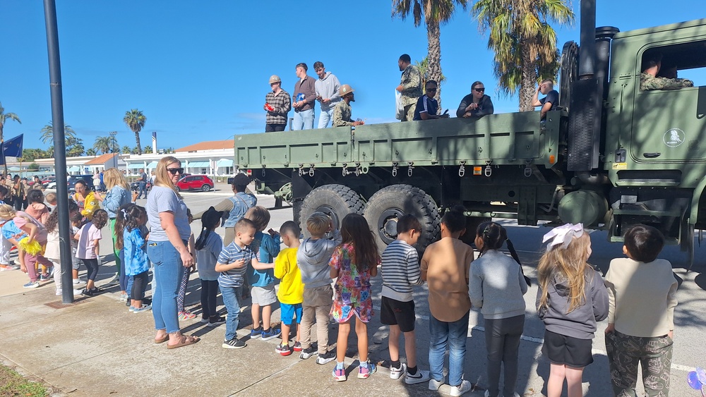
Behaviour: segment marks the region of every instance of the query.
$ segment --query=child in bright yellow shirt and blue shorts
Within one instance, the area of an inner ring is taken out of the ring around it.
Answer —
[[[297,250],[301,229],[294,221],[286,221],[280,227],[282,242],[288,248],[280,251],[275,259],[275,277],[280,279],[280,319],[282,320],[282,343],[275,351],[281,355],[290,355],[292,351],[301,351],[299,343],[299,323],[301,322],[301,302],[304,300],[304,284],[301,283],[301,272],[297,267]],[[297,315],[297,341],[289,346],[289,324]]]

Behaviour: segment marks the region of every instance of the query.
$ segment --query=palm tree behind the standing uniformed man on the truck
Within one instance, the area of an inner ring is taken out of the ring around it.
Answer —
[[[466,9],[467,0],[393,0],[393,17],[399,16],[405,20],[409,13],[414,16],[414,26],[426,25],[427,58],[429,66],[427,76],[429,80],[441,82],[441,42],[439,41],[439,27],[448,23],[456,11],[456,6]],[[424,18],[424,19],[422,19]],[[436,100],[441,109],[441,85],[436,90]]]

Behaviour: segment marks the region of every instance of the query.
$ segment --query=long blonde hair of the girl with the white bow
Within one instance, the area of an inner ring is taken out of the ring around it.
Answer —
[[[590,244],[591,238],[584,232],[581,237],[572,238],[567,248],[556,245],[544,252],[537,266],[537,281],[539,281],[539,288],[542,288],[542,297],[539,298],[540,311],[549,308],[549,283],[555,276],[568,283],[567,313],[586,302],[586,277],[587,272],[592,270],[586,262]],[[591,274],[594,272],[591,271]]]

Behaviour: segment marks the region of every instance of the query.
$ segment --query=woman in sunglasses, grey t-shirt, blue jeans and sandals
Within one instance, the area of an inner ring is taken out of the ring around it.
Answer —
[[[177,193],[174,183],[179,181],[181,161],[172,156],[157,163],[155,186],[147,197],[147,217],[150,238],[147,255],[155,265],[157,288],[152,296],[152,316],[155,317],[155,343],[167,342],[167,348],[179,348],[199,341],[196,336],[181,334],[177,313],[177,293],[185,268],[193,266],[193,257],[187,248],[191,235],[186,204]]]

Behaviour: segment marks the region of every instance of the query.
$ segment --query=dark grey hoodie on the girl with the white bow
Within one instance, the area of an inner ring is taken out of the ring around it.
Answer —
[[[537,314],[544,321],[547,331],[571,336],[578,339],[592,339],[596,332],[596,322],[608,317],[608,290],[603,283],[603,278],[591,267],[585,274],[586,301],[570,313],[568,280],[558,272],[554,272],[549,282],[549,305],[546,309],[539,309],[539,300],[542,298],[542,287],[537,290]]]

